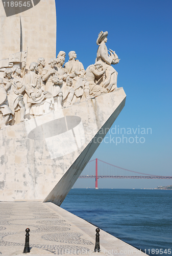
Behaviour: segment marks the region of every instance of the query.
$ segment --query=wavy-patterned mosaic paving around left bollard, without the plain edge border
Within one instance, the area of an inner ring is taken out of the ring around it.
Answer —
[[[93,250],[94,241],[65,220],[47,203],[0,203],[0,254],[22,254],[25,229],[30,228],[34,254],[65,254],[66,250]]]

